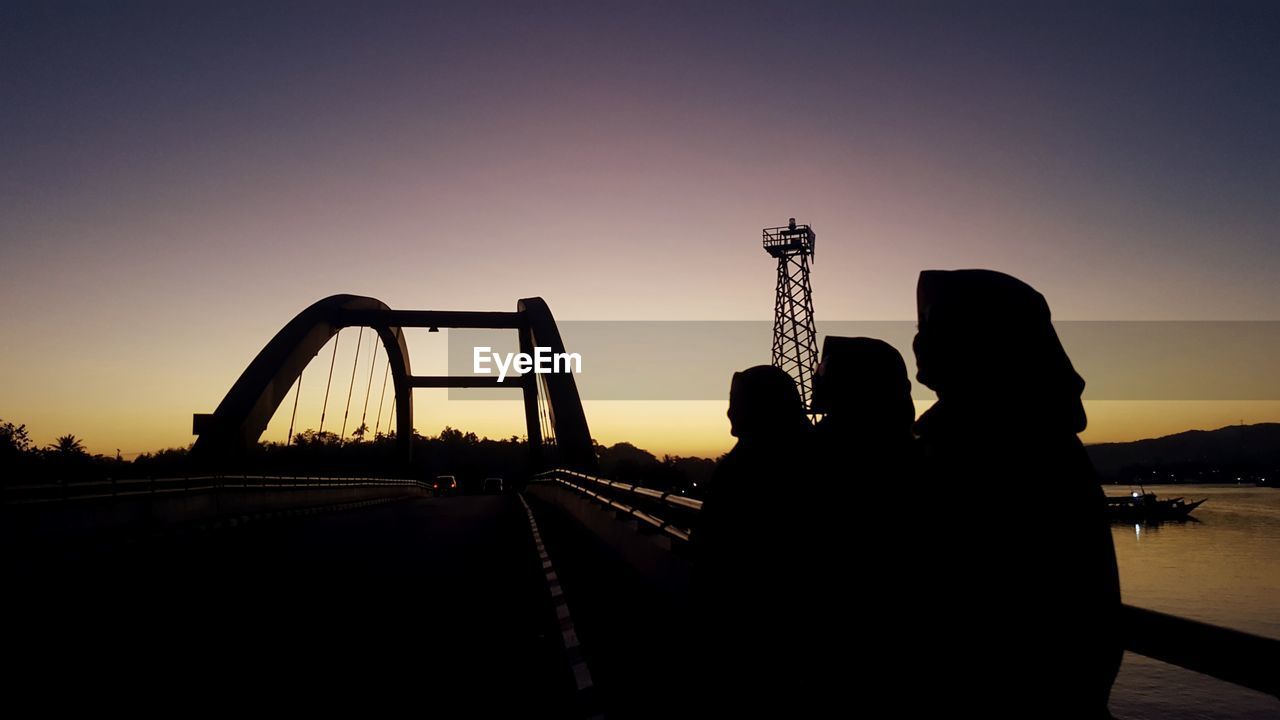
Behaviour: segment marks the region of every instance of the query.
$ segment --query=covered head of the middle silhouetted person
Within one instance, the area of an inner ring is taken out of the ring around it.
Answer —
[[[813,380],[813,410],[840,425],[910,434],[911,380],[902,354],[870,337],[828,337]]]

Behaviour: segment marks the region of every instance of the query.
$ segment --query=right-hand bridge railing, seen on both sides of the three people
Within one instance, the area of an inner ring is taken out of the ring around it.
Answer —
[[[535,475],[595,498],[673,539],[689,542],[703,502],[680,495],[556,469]],[[663,510],[677,523],[668,521]],[[1125,650],[1280,697],[1280,641],[1132,605],[1121,606]]]

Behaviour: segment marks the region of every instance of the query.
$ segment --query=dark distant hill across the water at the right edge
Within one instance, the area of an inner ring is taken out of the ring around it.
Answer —
[[[1280,470],[1280,423],[1188,430],[1134,442],[1107,442],[1085,448],[1103,479],[1128,480],[1152,474],[1179,480],[1235,480],[1235,475]]]

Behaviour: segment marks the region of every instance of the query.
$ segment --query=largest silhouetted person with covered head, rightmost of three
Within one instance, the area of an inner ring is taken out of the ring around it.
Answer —
[[[936,520],[941,705],[988,717],[1107,717],[1120,585],[1103,495],[1076,433],[1075,373],[1044,297],[989,270],[928,270],[916,423]]]

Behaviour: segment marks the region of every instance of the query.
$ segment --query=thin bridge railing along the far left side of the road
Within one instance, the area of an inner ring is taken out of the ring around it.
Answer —
[[[324,478],[310,475],[192,475],[186,478],[133,478],[77,483],[17,484],[3,488],[4,505],[41,505],[173,495],[220,489],[328,489],[361,487],[417,487],[430,484],[406,478]]]

